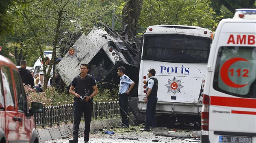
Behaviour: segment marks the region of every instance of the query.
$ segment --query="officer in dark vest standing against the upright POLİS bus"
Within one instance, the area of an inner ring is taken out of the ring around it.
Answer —
[[[147,103],[146,109],[146,125],[141,131],[150,131],[150,124],[152,128],[156,127],[156,102],[158,80],[154,77],[156,75],[155,69],[148,70],[147,93],[144,102]]]

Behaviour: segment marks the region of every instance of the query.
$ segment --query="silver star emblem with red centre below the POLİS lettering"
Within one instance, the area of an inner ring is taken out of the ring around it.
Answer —
[[[167,93],[180,93],[180,88],[184,87],[181,85],[181,80],[177,80],[175,77],[170,80],[168,79],[168,83],[165,85],[167,89]]]

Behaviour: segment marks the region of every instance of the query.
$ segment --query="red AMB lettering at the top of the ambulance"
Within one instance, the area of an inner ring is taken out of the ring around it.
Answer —
[[[233,35],[228,38],[227,44],[255,44],[255,35]]]

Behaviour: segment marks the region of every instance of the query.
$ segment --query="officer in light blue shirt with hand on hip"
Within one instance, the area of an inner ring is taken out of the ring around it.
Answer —
[[[125,75],[125,67],[118,67],[117,74],[120,76],[120,86],[119,86],[119,106],[122,118],[122,128],[129,128],[129,118],[128,118],[128,95],[134,86],[134,82]],[[130,88],[129,88],[130,86]]]

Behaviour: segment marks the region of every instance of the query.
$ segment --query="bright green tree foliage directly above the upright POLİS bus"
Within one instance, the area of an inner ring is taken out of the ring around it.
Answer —
[[[127,4],[131,1],[120,0],[121,2],[123,3],[117,8],[116,15],[129,16],[126,11],[133,11],[132,8],[135,6],[130,6],[128,9],[126,8],[129,7]],[[141,0],[137,0],[137,2],[141,2]],[[210,7],[210,3],[209,0],[144,0],[140,14],[137,14],[139,20],[135,25],[135,33],[145,32],[150,25],[161,24],[200,26],[214,30],[221,17],[215,17],[215,11]],[[137,11],[137,13],[139,12]],[[136,17],[133,17],[127,24],[133,25],[136,20]]]

